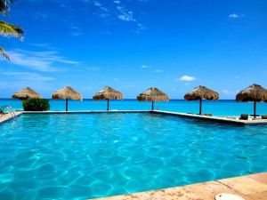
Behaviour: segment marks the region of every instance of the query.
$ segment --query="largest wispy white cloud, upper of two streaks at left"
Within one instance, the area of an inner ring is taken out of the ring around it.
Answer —
[[[12,58],[12,63],[15,65],[23,66],[25,68],[35,69],[37,71],[58,71],[57,63],[64,63],[70,65],[77,65],[77,61],[66,60],[58,56],[58,52],[29,52],[24,50],[15,50],[8,52]]]

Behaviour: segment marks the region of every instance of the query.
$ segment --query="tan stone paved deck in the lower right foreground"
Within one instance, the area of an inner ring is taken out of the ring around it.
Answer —
[[[141,186],[142,188],[142,186]],[[97,200],[214,200],[219,194],[241,196],[245,200],[267,199],[267,172],[214,180],[176,188],[109,196]],[[231,200],[232,198],[229,198]]]

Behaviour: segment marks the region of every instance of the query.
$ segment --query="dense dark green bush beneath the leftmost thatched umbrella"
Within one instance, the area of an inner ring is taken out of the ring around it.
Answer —
[[[25,111],[47,111],[50,109],[48,100],[38,98],[23,100],[22,106]]]

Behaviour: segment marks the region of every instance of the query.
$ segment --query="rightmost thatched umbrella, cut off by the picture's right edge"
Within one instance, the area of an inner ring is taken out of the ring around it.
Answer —
[[[236,96],[237,101],[254,101],[254,117],[256,116],[256,102],[267,102],[267,90],[259,84],[252,84],[240,91]]]

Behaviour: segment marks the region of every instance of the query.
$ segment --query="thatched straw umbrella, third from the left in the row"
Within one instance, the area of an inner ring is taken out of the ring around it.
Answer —
[[[104,87],[100,92],[97,92],[93,95],[93,100],[107,100],[107,110],[109,110],[109,100],[123,100],[123,94],[117,92],[111,87]]]

